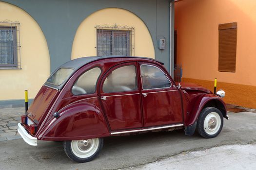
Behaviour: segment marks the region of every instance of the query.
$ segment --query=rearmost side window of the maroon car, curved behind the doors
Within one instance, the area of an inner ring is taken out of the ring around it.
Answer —
[[[84,72],[73,85],[72,93],[74,95],[95,93],[96,83],[100,73],[100,68],[92,68]]]

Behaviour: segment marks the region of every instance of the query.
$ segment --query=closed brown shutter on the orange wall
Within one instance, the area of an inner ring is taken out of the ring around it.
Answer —
[[[218,26],[218,71],[236,72],[237,23]]]

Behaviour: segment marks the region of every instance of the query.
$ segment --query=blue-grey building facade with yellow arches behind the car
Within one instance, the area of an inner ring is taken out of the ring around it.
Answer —
[[[79,57],[150,57],[172,71],[173,8],[172,0],[0,1],[0,105],[22,100],[24,90],[33,99],[56,68]]]

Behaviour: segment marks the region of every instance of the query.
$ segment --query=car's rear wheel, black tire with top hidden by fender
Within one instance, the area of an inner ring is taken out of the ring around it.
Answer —
[[[94,143],[94,145],[91,144],[90,146],[88,146],[89,140],[93,141],[91,143]],[[84,147],[85,149],[82,150],[81,149],[82,147]],[[89,148],[86,149],[86,147],[89,147]],[[67,156],[71,160],[79,163],[89,162],[93,160],[101,151],[102,147],[103,147],[103,138],[95,138],[95,139],[87,139],[87,140],[72,140],[72,141],[63,142],[63,148]],[[83,152],[88,152],[88,153],[83,154]]]

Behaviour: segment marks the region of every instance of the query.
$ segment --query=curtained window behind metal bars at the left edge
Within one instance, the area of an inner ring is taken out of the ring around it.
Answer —
[[[16,27],[0,26],[0,67],[18,67]]]

